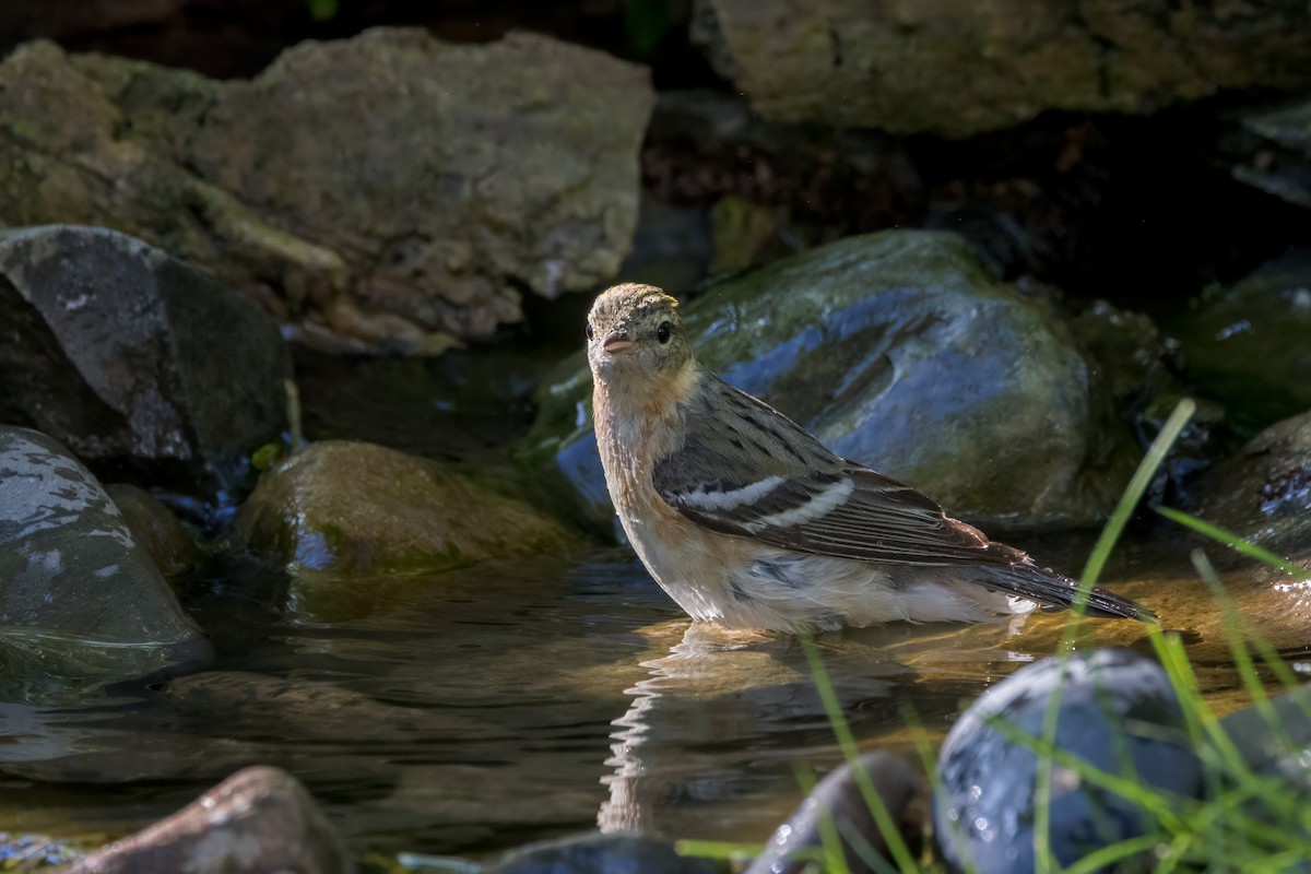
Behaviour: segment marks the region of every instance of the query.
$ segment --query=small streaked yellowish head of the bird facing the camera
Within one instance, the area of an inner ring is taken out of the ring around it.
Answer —
[[[654,286],[604,291],[587,314],[587,363],[611,390],[659,389],[684,373],[692,346],[678,301]]]

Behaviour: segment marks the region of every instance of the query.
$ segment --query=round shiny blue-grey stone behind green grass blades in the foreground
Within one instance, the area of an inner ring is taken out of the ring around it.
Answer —
[[[1160,666],[1121,649],[1046,658],[979,696],[943,742],[933,824],[949,865],[979,874],[1037,870],[1037,757],[1004,726],[1040,739],[1057,689],[1057,750],[1106,773],[1127,772],[1158,791],[1200,795],[1201,760]],[[1051,853],[1062,866],[1152,828],[1148,811],[1059,764],[1051,772],[1050,824]]]

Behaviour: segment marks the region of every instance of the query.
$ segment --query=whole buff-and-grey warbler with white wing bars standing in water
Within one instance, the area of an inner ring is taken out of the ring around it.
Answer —
[[[842,459],[701,367],[659,288],[621,284],[587,317],[606,485],[633,549],[696,620],[831,630],[1070,607],[1079,586]],[[1154,620],[1100,588],[1092,616]]]

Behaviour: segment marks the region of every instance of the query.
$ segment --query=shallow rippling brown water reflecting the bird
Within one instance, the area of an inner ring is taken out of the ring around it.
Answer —
[[[1024,545],[1078,567],[1087,540]],[[1192,575],[1186,548],[1156,540],[1122,550],[1106,582],[1148,604],[1190,591],[1196,615]],[[798,773],[839,757],[793,638],[691,626],[620,549],[430,578],[292,582],[229,562],[186,601],[215,642],[211,670],[0,705],[8,831],[121,835],[266,763],[300,777],[359,853],[476,856],[598,822],[750,841],[800,799]],[[1231,708],[1223,643],[1171,620]],[[940,736],[1051,651],[1061,622],[895,624],[821,645],[860,742],[911,750],[907,713]],[[1089,629],[1084,645],[1145,647],[1134,624]]]

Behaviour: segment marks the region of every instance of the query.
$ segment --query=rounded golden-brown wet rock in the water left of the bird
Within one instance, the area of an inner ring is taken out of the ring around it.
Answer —
[[[346,440],[313,443],[261,477],[233,540],[292,573],[447,570],[574,544],[444,464]]]

